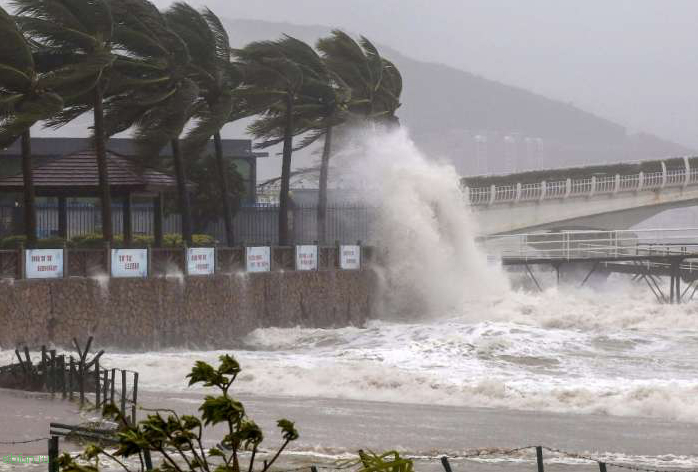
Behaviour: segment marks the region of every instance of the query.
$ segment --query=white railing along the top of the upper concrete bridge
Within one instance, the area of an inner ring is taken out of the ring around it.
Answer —
[[[616,174],[528,184],[491,185],[489,187],[465,187],[464,190],[470,204],[479,206],[493,203],[589,197],[596,194],[640,190],[660,190],[665,187],[685,187],[696,183],[698,183],[698,169],[692,169],[686,159],[685,167],[680,169],[667,169],[662,162],[661,172]]]

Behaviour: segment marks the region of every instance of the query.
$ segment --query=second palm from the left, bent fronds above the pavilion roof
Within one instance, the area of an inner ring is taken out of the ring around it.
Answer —
[[[109,69],[114,63],[111,51],[112,15],[107,0],[12,0],[17,21],[42,51],[43,67],[59,65],[65,109],[49,120],[61,126],[89,111],[94,115],[94,148],[102,206],[102,235],[113,239],[111,195],[107,171],[104,133],[103,94]]]

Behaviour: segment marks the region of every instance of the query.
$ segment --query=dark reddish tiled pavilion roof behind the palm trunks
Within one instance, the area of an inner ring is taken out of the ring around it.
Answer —
[[[109,186],[115,190],[165,190],[177,185],[173,176],[110,151],[107,151],[107,172]],[[21,189],[22,185],[21,173],[0,179],[0,191]],[[34,165],[34,186],[37,190],[96,189],[99,176],[94,151],[80,151]]]

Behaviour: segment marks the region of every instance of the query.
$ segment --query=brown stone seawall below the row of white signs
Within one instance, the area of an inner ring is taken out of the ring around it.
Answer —
[[[258,327],[361,325],[372,271],[0,282],[0,347],[95,337],[99,346],[229,347]]]

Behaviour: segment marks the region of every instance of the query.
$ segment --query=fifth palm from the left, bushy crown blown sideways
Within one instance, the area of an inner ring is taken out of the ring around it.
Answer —
[[[283,143],[281,163],[281,191],[279,195],[279,244],[290,243],[288,225],[289,188],[293,136],[305,125],[294,120],[305,106],[303,99],[311,96],[322,80],[322,62],[310,46],[284,36],[276,41],[259,41],[236,50],[244,79],[236,92],[244,97],[249,109],[266,111],[250,127],[249,131],[265,141],[258,147]]]

